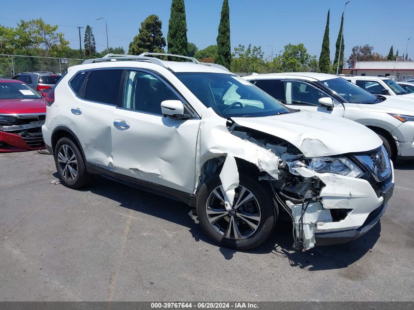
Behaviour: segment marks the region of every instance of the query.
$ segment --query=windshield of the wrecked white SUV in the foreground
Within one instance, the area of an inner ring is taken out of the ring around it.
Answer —
[[[178,72],[178,79],[219,116],[261,117],[289,113],[284,105],[237,75]]]

